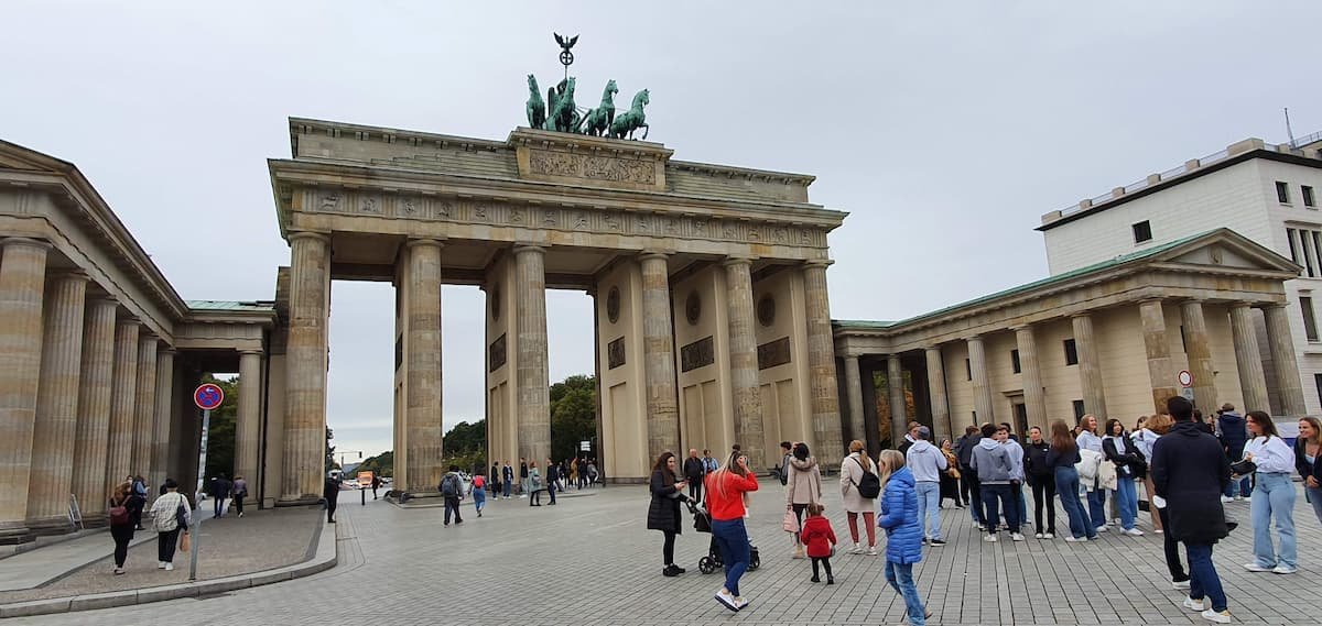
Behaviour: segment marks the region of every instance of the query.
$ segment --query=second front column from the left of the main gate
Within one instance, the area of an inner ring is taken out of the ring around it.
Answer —
[[[440,248],[435,239],[416,239],[406,248],[408,263],[407,485],[410,494],[436,494],[440,485]],[[542,328],[545,329],[545,321]],[[545,345],[545,330],[543,345]],[[543,390],[545,392],[545,390]],[[547,421],[547,424],[550,424]]]

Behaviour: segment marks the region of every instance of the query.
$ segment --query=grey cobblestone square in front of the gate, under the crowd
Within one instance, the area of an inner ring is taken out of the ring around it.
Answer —
[[[809,563],[789,557],[780,530],[781,487],[763,485],[750,522],[761,568],[744,577],[752,604],[738,614],[711,598],[720,576],[698,573],[710,536],[687,524],[677,557],[689,572],[661,577],[661,535],[644,530],[646,489],[616,486],[555,507],[498,501],[481,519],[465,506],[464,523],[448,528],[440,508],[401,510],[383,501],[341,506],[340,565],[325,573],[222,597],[12,622],[164,623],[188,611],[198,625],[904,623],[904,604],[886,586],[882,556],[838,556],[836,585],[809,582]],[[829,490],[826,501],[837,535],[847,541],[838,491]],[[1228,504],[1243,526],[1216,547],[1215,559],[1236,623],[1319,621],[1322,531],[1302,494],[1298,503],[1300,572],[1293,576],[1241,567],[1252,552],[1248,503]],[[1002,541],[988,544],[966,511],[943,514],[949,544],[927,548],[915,568],[935,613],[929,623],[1207,623],[1181,608],[1159,535],[1107,532],[1099,541],[1069,544],[1031,534],[1011,543],[1002,534]],[[1147,530],[1146,516],[1141,528]]]

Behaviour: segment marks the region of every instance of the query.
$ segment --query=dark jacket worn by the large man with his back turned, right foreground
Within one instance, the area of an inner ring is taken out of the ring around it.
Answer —
[[[1222,493],[1231,482],[1231,464],[1216,437],[1196,421],[1178,421],[1153,445],[1153,490],[1166,499],[1171,539],[1214,544],[1225,539]]]

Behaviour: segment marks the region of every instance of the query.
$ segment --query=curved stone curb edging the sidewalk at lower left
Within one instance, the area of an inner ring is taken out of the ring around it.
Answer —
[[[149,586],[145,589],[128,589],[123,592],[93,593],[85,596],[71,596],[65,598],[32,600],[28,602],[13,602],[0,605],[0,619],[7,617],[49,615],[53,613],[73,613],[79,610],[110,609],[114,606],[131,606],[163,600],[196,598],[215,593],[247,589],[250,586],[270,585],[287,580],[301,578],[315,573],[325,572],[340,563],[336,545],[334,527],[327,528],[328,523],[321,523],[317,532],[316,553],[293,565],[286,565],[263,572],[253,572],[223,578],[204,580],[198,582],[184,582],[177,585]],[[309,545],[311,548],[311,545]],[[311,551],[311,549],[309,549]]]

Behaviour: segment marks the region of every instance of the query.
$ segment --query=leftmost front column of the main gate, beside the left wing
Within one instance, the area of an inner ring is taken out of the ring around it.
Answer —
[[[278,506],[313,503],[321,498],[325,482],[330,239],[317,232],[293,232],[290,256],[284,477]]]

